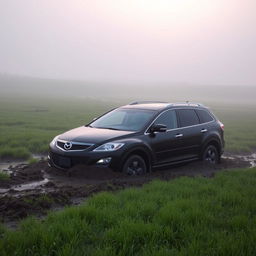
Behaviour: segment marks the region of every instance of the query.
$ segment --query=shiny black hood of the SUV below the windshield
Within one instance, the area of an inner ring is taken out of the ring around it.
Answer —
[[[58,139],[97,144],[107,140],[120,139],[132,133],[134,132],[81,126],[61,134]]]

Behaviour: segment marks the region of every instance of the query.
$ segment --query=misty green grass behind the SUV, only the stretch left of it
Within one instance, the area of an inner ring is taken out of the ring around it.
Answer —
[[[0,157],[29,159],[31,153],[46,153],[53,137],[112,107],[88,100],[1,99]]]

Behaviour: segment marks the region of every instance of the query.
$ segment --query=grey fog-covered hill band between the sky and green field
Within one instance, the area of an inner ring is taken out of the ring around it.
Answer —
[[[38,79],[0,75],[0,101],[56,103],[84,101],[123,105],[137,100],[198,102],[205,105],[246,105],[255,109],[256,86],[202,86],[194,84],[130,84]],[[69,104],[67,103],[67,107]]]

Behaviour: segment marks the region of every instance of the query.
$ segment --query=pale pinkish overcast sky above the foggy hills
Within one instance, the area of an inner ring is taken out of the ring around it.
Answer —
[[[0,0],[0,73],[256,86],[256,0]]]

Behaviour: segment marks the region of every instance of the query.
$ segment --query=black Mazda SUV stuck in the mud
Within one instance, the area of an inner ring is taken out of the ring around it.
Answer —
[[[219,162],[224,125],[201,104],[133,102],[50,143],[49,165],[101,165],[127,174],[202,159]]]

